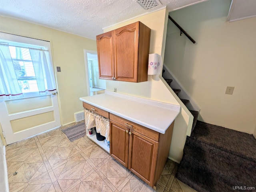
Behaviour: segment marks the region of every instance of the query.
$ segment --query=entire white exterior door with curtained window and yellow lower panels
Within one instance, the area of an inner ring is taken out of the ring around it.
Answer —
[[[8,66],[13,65],[12,74],[23,95],[20,98],[8,98],[8,94],[5,94],[6,97],[0,99],[0,123],[6,143],[11,144],[60,126],[50,42],[0,33],[0,43],[10,49],[11,57],[7,59],[9,57],[0,56],[2,59],[0,61],[5,59],[9,62]],[[43,56],[36,55],[39,52],[42,53],[42,49],[44,49]],[[0,49],[0,51],[3,50],[6,51],[4,48]],[[35,50],[38,52],[33,52]],[[43,68],[46,63],[48,63],[47,69]],[[2,62],[1,66],[4,69],[3,66],[6,65]],[[42,67],[41,71],[38,70],[38,66]],[[41,77],[46,73],[51,80]],[[2,75],[0,78],[4,79],[7,73],[4,71],[0,75]],[[7,84],[8,81],[4,86]],[[42,91],[42,84],[45,86],[44,91]]]

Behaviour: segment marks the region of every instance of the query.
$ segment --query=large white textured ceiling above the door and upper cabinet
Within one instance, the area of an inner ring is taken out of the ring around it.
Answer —
[[[0,15],[95,39],[102,28],[167,6],[169,11],[206,0],[159,0],[144,10],[136,0],[0,0]]]

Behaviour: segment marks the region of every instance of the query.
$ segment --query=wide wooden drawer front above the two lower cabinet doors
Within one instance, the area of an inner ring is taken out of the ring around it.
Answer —
[[[109,114],[109,119],[112,121],[115,121],[119,123],[120,125],[123,125],[124,127],[127,127],[128,129],[132,129],[150,139],[153,139],[154,141],[159,141],[159,134],[158,132],[148,129],[146,127],[143,127],[142,125],[138,125],[137,123],[134,123],[132,121],[126,120],[124,118],[120,118],[119,116],[116,116],[114,114]],[[127,125],[128,124],[128,125]],[[130,125],[130,126],[129,126]]]

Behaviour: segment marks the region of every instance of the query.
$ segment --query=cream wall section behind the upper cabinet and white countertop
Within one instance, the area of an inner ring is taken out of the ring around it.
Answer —
[[[162,58],[164,58],[168,22],[168,12],[166,9],[140,16],[121,24],[116,24],[112,27],[104,29],[104,32],[137,21],[142,22],[151,29],[150,53],[158,53],[162,55]],[[117,88],[117,92],[124,94],[130,94],[179,105],[178,101],[176,100],[176,94],[171,90],[170,86],[168,86],[168,84],[163,80],[161,76],[159,77],[155,75],[149,75],[147,82],[140,83],[106,80],[106,89],[114,91],[114,88]],[[191,128],[192,126],[192,115],[190,112],[188,112],[183,104],[180,104],[180,106],[181,112],[174,123],[172,143],[169,152],[169,159],[172,159],[178,163],[182,159],[184,143],[186,141],[186,133],[189,129],[188,127]]]

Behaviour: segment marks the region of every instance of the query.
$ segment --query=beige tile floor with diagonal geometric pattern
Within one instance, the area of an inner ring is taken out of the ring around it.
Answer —
[[[87,136],[70,142],[61,130],[74,124],[6,147],[10,192],[155,192]],[[176,170],[168,160],[157,192],[195,192]]]

